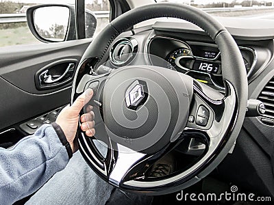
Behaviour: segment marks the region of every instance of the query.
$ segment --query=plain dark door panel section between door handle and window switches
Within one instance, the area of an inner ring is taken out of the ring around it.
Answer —
[[[0,78],[0,129],[69,103],[71,87],[51,94],[30,94]]]

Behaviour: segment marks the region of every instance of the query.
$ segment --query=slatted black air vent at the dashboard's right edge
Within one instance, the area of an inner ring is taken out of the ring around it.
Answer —
[[[274,77],[266,84],[258,100],[264,102],[266,107],[264,117],[274,119]]]

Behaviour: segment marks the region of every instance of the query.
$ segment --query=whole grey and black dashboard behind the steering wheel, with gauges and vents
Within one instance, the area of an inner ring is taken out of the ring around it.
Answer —
[[[233,154],[218,167],[221,178],[274,197],[274,24],[273,20],[218,18],[238,44],[245,63],[249,98],[262,100],[266,114],[246,118]],[[256,22],[254,22],[256,21]],[[125,31],[110,45],[105,65],[151,65],[177,70],[224,91],[218,46],[199,27],[156,20]],[[264,169],[260,169],[260,167]],[[273,179],[273,180],[269,180]]]

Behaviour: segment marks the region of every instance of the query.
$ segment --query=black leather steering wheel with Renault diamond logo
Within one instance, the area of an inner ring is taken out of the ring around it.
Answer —
[[[123,66],[107,74],[94,73],[120,33],[158,17],[187,20],[214,40],[221,51],[224,95],[186,74],[157,66]],[[210,174],[234,146],[247,107],[247,74],[236,42],[212,16],[182,3],[145,5],[109,23],[79,63],[71,102],[88,87],[95,90],[90,103],[97,134],[87,137],[79,129],[80,152],[105,181],[147,195],[179,191]],[[206,145],[201,156],[167,176],[146,176],[155,161],[189,137]],[[105,156],[95,139],[107,146]]]

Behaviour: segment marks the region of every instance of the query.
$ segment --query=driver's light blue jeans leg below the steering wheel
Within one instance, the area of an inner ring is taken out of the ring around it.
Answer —
[[[90,169],[75,152],[61,172],[56,173],[26,204],[151,204],[153,197],[115,189]]]

